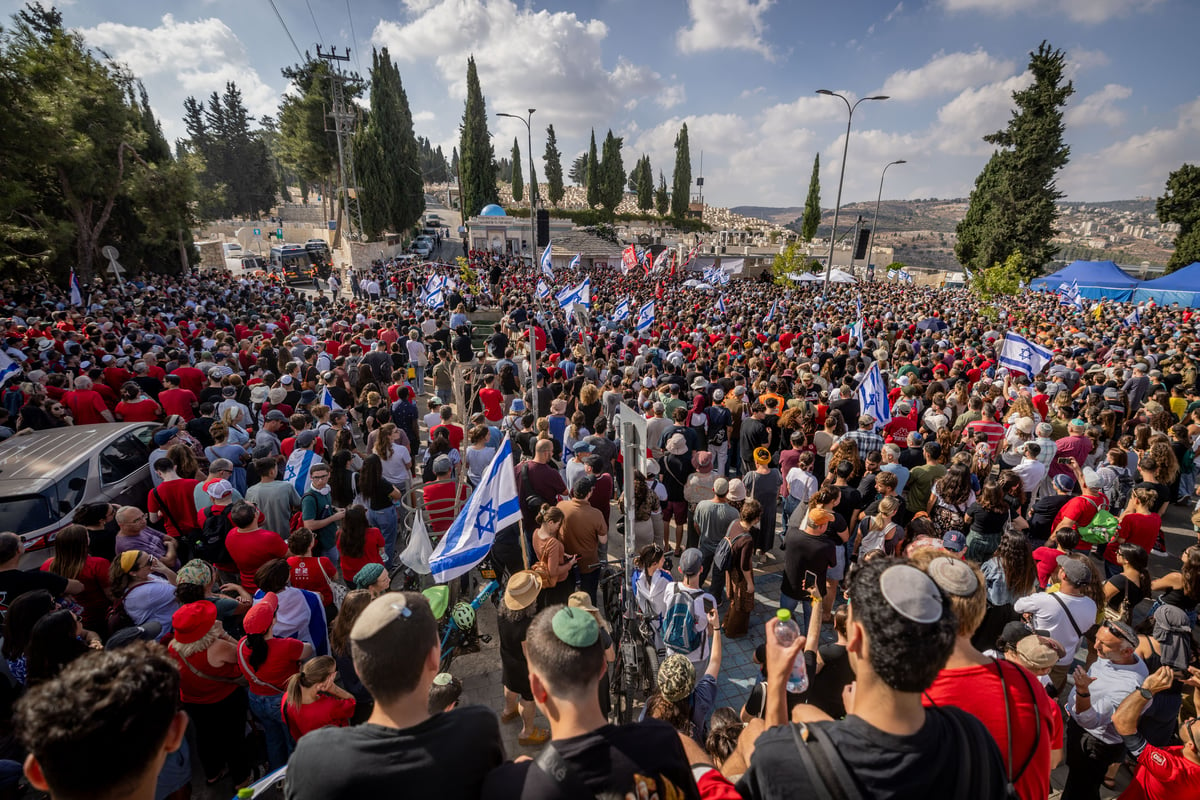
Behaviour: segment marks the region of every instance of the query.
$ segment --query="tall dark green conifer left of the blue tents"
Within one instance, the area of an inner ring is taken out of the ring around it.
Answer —
[[[1016,109],[1008,126],[984,137],[997,150],[976,179],[954,248],[968,271],[1007,264],[1019,252],[1028,279],[1057,253],[1050,243],[1062,197],[1055,176],[1070,158],[1062,114],[1075,92],[1066,67],[1063,52],[1042,42],[1030,53],[1032,85],[1013,92]]]

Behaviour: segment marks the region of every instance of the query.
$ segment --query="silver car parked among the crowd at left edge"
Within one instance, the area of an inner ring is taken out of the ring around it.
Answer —
[[[84,503],[145,507],[154,422],[77,425],[0,443],[0,530],[19,534],[22,567],[40,565]]]

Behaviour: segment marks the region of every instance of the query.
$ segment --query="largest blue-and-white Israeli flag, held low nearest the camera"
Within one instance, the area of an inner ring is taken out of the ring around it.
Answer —
[[[521,522],[521,500],[512,469],[512,441],[505,437],[484,470],[479,487],[433,549],[430,557],[433,579],[448,583],[468,572],[492,549],[497,531],[517,522]]]

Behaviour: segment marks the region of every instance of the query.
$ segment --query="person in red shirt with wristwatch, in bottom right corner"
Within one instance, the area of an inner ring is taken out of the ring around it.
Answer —
[[[1200,708],[1200,669],[1188,667],[1186,679],[1193,687],[1195,706]],[[1138,718],[1150,699],[1175,682],[1170,667],[1160,667],[1141,681],[1112,714],[1112,727],[1124,738],[1126,750],[1138,759],[1133,781],[1120,800],[1182,800],[1200,796],[1200,720],[1193,717],[1180,726],[1181,747],[1156,747],[1138,733]]]

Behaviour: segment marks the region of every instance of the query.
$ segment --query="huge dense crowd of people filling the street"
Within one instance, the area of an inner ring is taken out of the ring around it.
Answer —
[[[144,503],[82,505],[36,570],[46,543],[0,533],[8,784],[186,796],[286,764],[296,800],[1045,800],[1063,762],[1069,800],[1200,793],[1200,545],[1163,530],[1195,493],[1193,312],[685,272],[590,272],[582,313],[481,252],[329,296],[155,276],[77,307],[0,284],[0,438],[155,423]],[[625,299],[653,324],[614,321]],[[1007,331],[1052,362],[1002,367]],[[874,366],[888,419],[859,399]],[[631,485],[622,407],[646,417]],[[439,672],[446,609],[400,589],[415,515],[436,543],[505,437],[497,714]],[[625,542],[662,658],[617,726],[598,591]],[[716,708],[745,636],[762,680]]]

